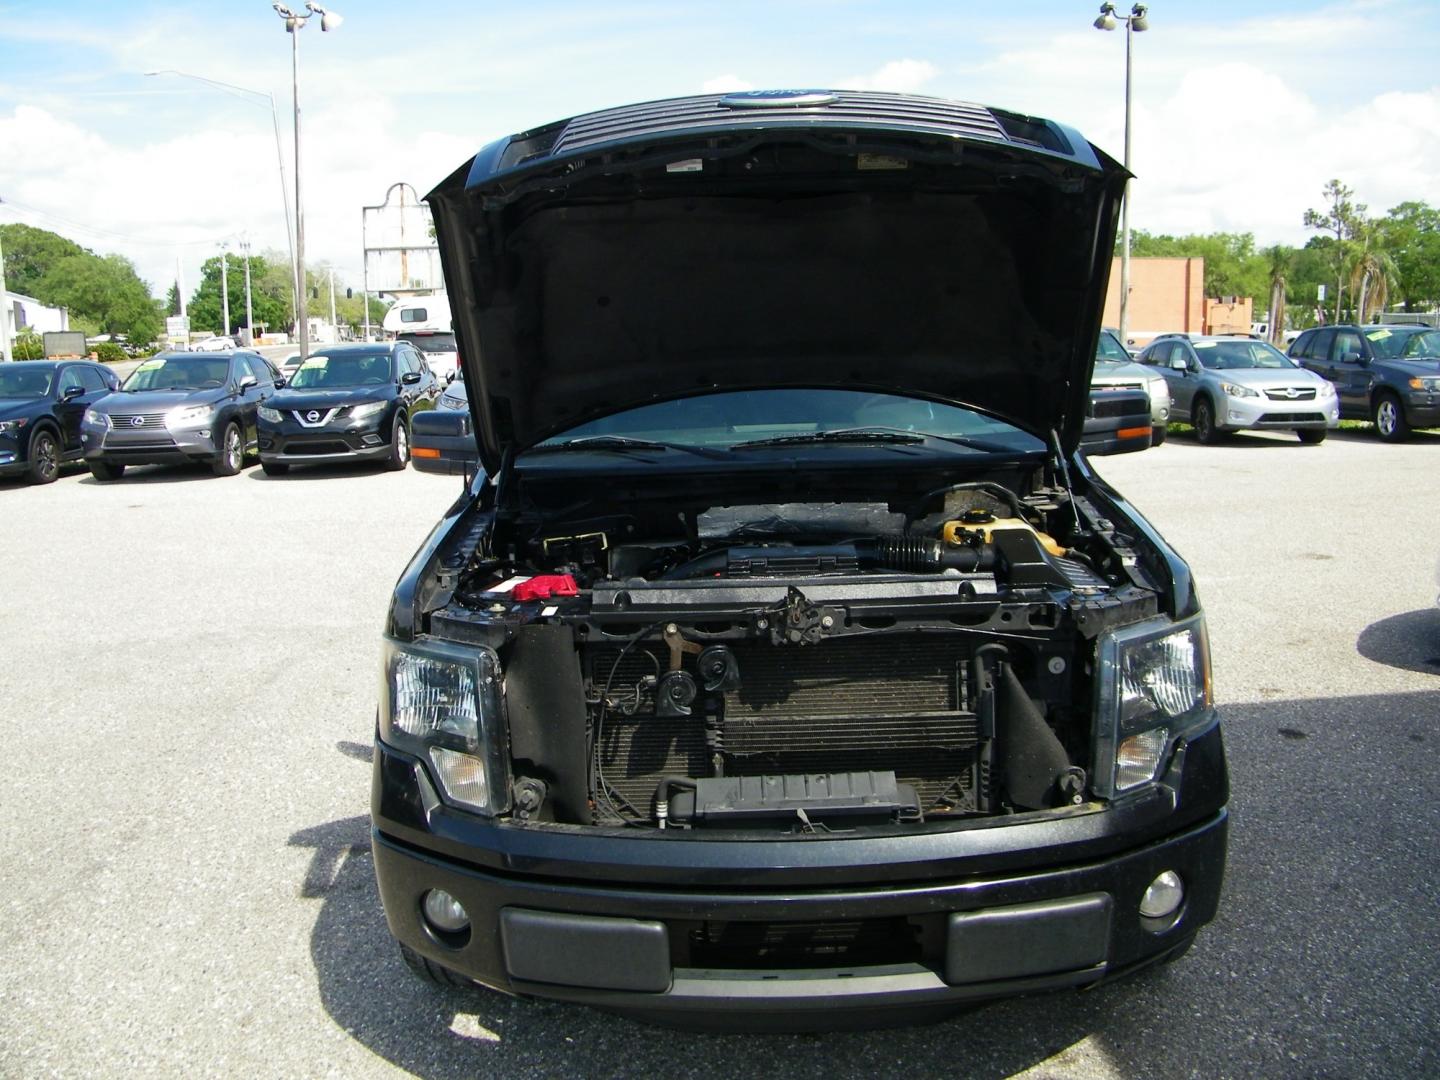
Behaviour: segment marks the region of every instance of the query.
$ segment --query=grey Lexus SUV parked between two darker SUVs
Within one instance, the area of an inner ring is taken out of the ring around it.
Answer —
[[[279,373],[259,353],[160,353],[85,410],[85,464],[99,481],[130,465],[204,462],[233,477],[255,449],[255,413]]]

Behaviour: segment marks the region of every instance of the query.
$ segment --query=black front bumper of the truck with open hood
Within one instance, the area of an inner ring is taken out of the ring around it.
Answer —
[[[498,991],[684,1025],[876,1025],[1096,982],[1184,945],[1224,873],[1218,726],[1172,765],[1168,798],[874,838],[469,828],[415,776],[377,744],[373,850],[397,940]],[[1165,870],[1185,901],[1148,923],[1138,904]],[[426,924],[431,888],[465,906],[468,932]]]

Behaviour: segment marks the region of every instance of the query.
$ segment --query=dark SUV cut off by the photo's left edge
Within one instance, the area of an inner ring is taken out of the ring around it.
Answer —
[[[78,461],[85,410],[120,387],[104,364],[22,360],[0,366],[0,477],[50,484]]]

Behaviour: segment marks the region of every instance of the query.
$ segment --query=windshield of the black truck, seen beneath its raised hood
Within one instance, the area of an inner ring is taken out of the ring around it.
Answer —
[[[540,445],[621,436],[730,448],[760,439],[854,431],[984,439],[1021,454],[1045,448],[1035,436],[972,409],[860,390],[736,390],[683,397],[582,423]]]

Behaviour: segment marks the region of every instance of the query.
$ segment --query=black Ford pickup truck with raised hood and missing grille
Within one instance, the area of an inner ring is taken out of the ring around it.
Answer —
[[[1125,176],[796,91],[547,124],[431,193],[468,400],[415,462],[471,477],[396,585],[372,788],[418,973],[822,1028],[1189,948],[1205,619],[1080,449]]]

